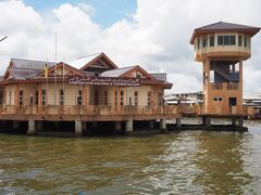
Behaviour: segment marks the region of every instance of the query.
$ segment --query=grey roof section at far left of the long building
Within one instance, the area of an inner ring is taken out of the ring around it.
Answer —
[[[55,63],[44,62],[44,61],[23,60],[23,58],[11,58],[11,61],[10,61],[10,66],[17,67],[17,68],[44,69],[46,64],[48,67],[51,67]]]

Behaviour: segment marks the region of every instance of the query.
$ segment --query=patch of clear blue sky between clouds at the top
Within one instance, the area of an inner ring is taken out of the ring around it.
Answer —
[[[40,12],[59,8],[63,3],[87,3],[95,9],[91,18],[103,27],[121,18],[128,18],[137,8],[136,0],[24,0],[24,2]]]

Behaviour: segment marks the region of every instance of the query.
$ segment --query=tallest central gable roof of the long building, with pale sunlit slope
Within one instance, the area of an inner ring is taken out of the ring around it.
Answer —
[[[80,70],[86,70],[87,67],[91,66],[95,62],[104,58],[108,62],[108,65],[111,66],[111,69],[117,68],[117,66],[104,54],[104,53],[96,53],[91,55],[87,55],[85,57],[78,58],[70,64]]]

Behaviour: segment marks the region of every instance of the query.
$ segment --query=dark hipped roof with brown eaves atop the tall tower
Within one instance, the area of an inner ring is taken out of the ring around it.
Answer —
[[[219,22],[214,24],[210,24],[207,26],[202,26],[199,28],[196,28],[194,30],[192,37],[190,39],[190,44],[194,43],[195,38],[200,34],[209,34],[209,32],[247,32],[251,37],[254,36],[257,32],[259,32],[259,27],[253,26],[246,26],[240,24],[234,24],[234,23],[225,23],[225,22]]]

